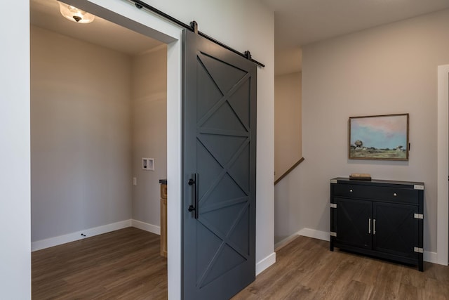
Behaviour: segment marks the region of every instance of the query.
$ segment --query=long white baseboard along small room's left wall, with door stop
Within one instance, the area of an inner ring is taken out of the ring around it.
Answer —
[[[31,243],[31,251],[33,252],[53,246],[58,246],[58,244],[65,244],[67,242],[82,240],[86,237],[93,237],[94,235],[101,235],[103,233],[109,233],[110,231],[119,230],[130,226],[131,220],[125,220],[94,228],[88,228],[86,230],[77,231],[76,233],[69,233],[67,235],[60,235],[58,237],[50,237],[45,240],[38,240]]]

